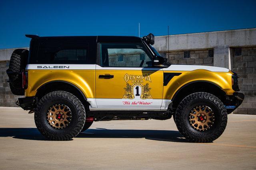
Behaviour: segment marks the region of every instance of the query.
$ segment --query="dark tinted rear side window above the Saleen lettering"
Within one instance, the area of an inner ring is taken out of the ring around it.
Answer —
[[[38,64],[90,64],[88,43],[82,39],[46,39],[39,44]]]

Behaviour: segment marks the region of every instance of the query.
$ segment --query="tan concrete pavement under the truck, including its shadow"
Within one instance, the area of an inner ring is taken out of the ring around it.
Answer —
[[[254,169],[256,115],[228,115],[213,143],[188,143],[172,119],[95,122],[72,141],[47,141],[34,114],[0,107],[0,169]]]

